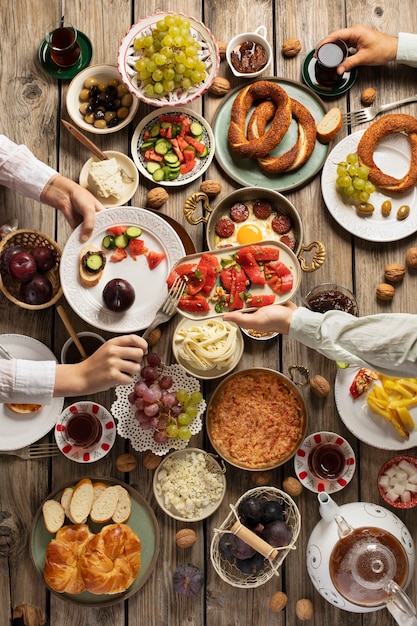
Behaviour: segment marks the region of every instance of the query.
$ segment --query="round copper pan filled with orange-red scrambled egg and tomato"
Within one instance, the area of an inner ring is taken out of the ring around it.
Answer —
[[[230,374],[208,405],[207,433],[216,452],[246,470],[272,469],[291,459],[307,429],[297,386],[267,368]]]

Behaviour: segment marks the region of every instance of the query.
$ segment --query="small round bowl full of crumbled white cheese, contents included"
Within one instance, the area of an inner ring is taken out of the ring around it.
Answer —
[[[188,448],[172,452],[155,471],[156,501],[164,513],[176,520],[200,522],[210,517],[223,501],[225,471],[213,455],[204,450]]]

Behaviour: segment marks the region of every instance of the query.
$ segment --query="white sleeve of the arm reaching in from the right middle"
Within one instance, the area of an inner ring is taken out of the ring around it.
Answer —
[[[289,337],[334,361],[369,367],[389,376],[417,377],[417,315],[355,317],[299,307]]]

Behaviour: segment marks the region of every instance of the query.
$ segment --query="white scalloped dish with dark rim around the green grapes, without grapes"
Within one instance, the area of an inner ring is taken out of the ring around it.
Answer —
[[[135,68],[135,63],[141,58],[141,54],[140,51],[134,49],[134,42],[138,37],[150,35],[156,23],[167,15],[181,15],[190,22],[192,37],[200,43],[198,56],[206,62],[206,78],[201,83],[186,90],[179,88],[176,91],[162,94],[160,97],[148,97]],[[219,46],[210,30],[195,17],[180,12],[161,11],[143,18],[131,27],[120,44],[117,63],[123,81],[136,98],[154,107],[181,106],[202,96],[212,84],[220,65]]]

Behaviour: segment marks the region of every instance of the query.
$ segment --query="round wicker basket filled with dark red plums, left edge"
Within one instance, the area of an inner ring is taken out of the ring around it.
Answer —
[[[23,309],[53,306],[62,296],[61,249],[36,230],[15,230],[0,242],[0,289]]]

